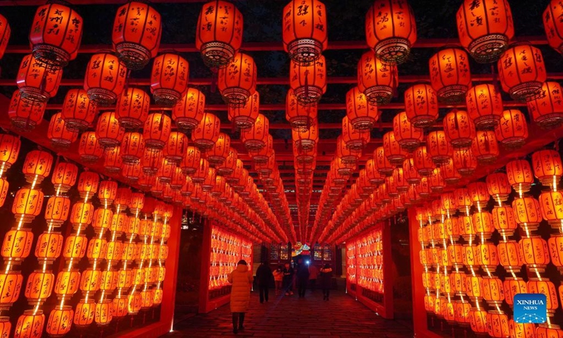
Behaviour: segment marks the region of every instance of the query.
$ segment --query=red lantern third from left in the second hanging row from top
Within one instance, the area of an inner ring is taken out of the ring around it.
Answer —
[[[151,93],[156,104],[172,107],[188,88],[189,63],[173,53],[157,56],[151,71]]]

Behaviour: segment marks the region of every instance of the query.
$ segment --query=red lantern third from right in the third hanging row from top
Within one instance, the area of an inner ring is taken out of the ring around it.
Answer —
[[[407,118],[417,128],[428,128],[438,118],[436,92],[429,84],[415,84],[405,91]]]

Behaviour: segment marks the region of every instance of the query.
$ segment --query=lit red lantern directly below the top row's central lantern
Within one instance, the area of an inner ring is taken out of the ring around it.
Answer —
[[[327,61],[324,56],[303,65],[292,60],[289,66],[289,85],[300,104],[307,106],[320,101],[322,94],[327,92]]]

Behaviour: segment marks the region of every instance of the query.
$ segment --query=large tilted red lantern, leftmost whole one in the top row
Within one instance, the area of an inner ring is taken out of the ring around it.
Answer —
[[[33,56],[52,68],[63,68],[74,60],[82,40],[82,17],[61,3],[37,8],[30,30]]]

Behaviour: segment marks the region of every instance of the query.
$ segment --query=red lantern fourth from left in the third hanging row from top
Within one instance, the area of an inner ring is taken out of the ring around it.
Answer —
[[[195,88],[188,88],[182,99],[172,108],[172,120],[178,130],[187,132],[194,130],[203,119],[205,95]]]

